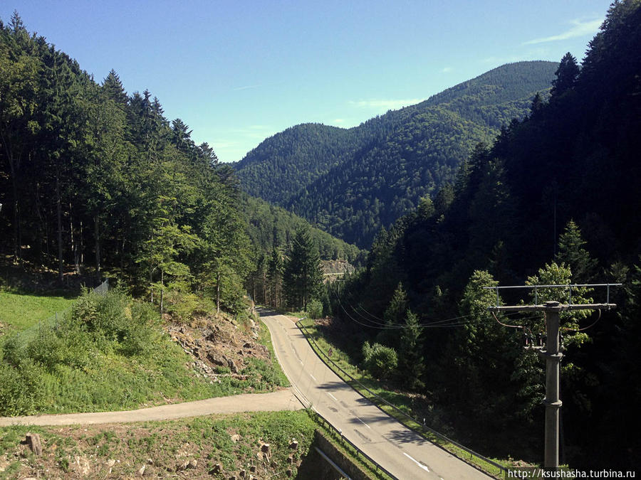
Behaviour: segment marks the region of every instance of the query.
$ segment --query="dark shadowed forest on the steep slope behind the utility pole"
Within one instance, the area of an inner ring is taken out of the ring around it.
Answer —
[[[496,294],[481,287],[622,282],[611,291],[616,310],[561,317],[561,460],[640,466],[630,423],[641,405],[640,45],[640,2],[615,2],[582,64],[565,55],[551,96],[537,95],[452,183],[382,229],[365,270],[333,297],[353,355],[394,348],[390,383],[424,395],[434,425],[486,454],[541,461],[543,362],[506,325],[545,331],[542,315],[499,324],[486,310]],[[569,294],[606,298],[575,287],[538,300]],[[521,300],[534,299],[499,301]]]

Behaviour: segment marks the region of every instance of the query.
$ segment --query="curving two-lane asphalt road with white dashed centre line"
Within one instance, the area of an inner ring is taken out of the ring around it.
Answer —
[[[287,316],[262,311],[278,361],[301,401],[398,479],[489,479],[428,442],[343,382]]]

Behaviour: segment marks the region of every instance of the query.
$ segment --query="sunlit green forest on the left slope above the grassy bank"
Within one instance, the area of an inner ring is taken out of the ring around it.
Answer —
[[[150,92],[98,83],[16,13],[0,23],[0,251],[58,272],[109,276],[160,303],[207,293],[238,311],[261,262],[287,259],[306,222],[241,193],[231,166],[167,120]],[[311,230],[323,259],[358,248]]]

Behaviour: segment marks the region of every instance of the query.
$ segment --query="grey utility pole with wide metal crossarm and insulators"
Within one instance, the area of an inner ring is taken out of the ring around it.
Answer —
[[[610,287],[620,286],[618,284],[581,284],[581,285],[525,285],[520,287],[484,287],[485,289],[496,290],[496,306],[489,306],[489,311],[543,311],[546,315],[546,346],[545,349],[538,348],[538,354],[546,360],[546,398],[543,405],[546,406],[546,433],[545,433],[545,454],[543,466],[546,468],[558,468],[558,430],[559,430],[559,409],[561,409],[561,398],[559,398],[559,381],[561,376],[561,358],[563,352],[559,341],[559,326],[561,311],[573,310],[610,310],[616,308],[616,304],[610,303]],[[571,303],[572,288],[575,287],[608,287],[608,296],[604,304],[573,304]],[[535,303],[533,305],[499,306],[499,289],[526,288],[534,289]],[[570,301],[567,304],[549,301],[544,304],[537,304],[539,288],[563,288],[570,289]]]

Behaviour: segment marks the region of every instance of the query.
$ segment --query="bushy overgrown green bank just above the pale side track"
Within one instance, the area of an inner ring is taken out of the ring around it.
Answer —
[[[0,344],[0,415],[129,410],[261,393],[288,385],[278,362],[249,358],[241,375],[199,375],[157,311],[122,292],[85,294],[67,315]],[[269,331],[261,331],[269,341]]]

